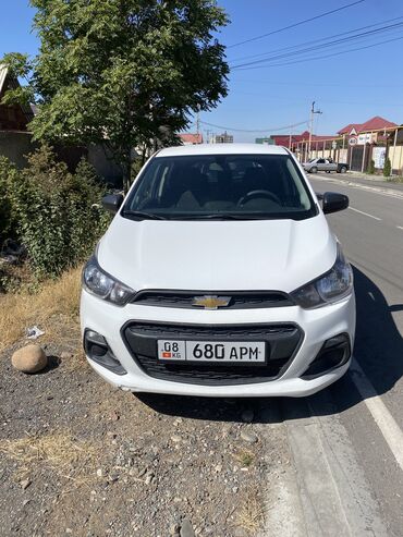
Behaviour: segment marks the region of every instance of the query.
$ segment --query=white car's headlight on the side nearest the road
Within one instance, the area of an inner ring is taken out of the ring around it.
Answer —
[[[353,289],[353,270],[338,244],[338,257],[331,270],[317,280],[297,289],[291,296],[298,306],[310,309],[326,306],[347,296]]]

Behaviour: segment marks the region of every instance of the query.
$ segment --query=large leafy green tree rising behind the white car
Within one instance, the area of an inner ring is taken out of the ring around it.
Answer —
[[[192,113],[227,95],[228,23],[215,0],[32,0],[39,54],[3,61],[28,84],[5,101],[35,99],[36,139],[105,144],[131,183],[133,148],[169,145]]]

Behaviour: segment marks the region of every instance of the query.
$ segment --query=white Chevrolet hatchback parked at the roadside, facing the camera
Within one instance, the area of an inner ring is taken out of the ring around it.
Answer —
[[[171,147],[154,155],[83,271],[86,356],[135,392],[312,394],[349,368],[353,276],[285,148]]]

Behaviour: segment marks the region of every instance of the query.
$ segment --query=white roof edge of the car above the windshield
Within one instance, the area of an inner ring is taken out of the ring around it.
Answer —
[[[191,155],[289,155],[289,151],[285,147],[267,144],[197,144],[166,147],[156,157]]]

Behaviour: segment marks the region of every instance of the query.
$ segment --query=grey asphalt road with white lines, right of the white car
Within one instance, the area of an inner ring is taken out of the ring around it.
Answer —
[[[403,191],[335,174],[308,179],[317,193],[350,197],[328,220],[354,268],[354,361],[314,396],[260,402],[261,423],[285,426],[291,461],[267,484],[261,535],[402,537]]]

